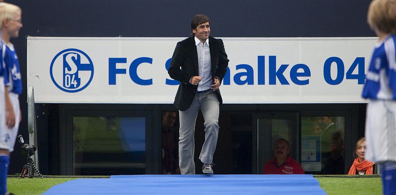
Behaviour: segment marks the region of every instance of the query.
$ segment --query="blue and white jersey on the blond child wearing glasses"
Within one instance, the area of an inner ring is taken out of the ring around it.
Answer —
[[[2,58],[4,66],[4,83],[8,86],[8,91],[16,94],[22,93],[21,71],[19,68],[18,56],[13,44],[2,43]]]

